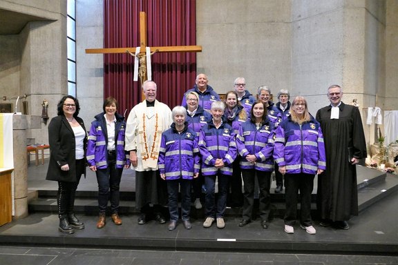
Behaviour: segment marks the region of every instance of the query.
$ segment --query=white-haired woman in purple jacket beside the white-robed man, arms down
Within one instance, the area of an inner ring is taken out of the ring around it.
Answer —
[[[178,188],[181,191],[181,219],[186,229],[191,229],[191,180],[198,177],[200,157],[198,137],[188,128],[187,110],[176,106],[171,111],[173,124],[162,133],[158,167],[160,177],[167,180],[169,193],[170,231],[176,229],[178,221]]]

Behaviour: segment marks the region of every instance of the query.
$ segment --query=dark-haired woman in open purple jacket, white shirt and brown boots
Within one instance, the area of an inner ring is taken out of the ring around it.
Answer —
[[[88,134],[87,161],[95,171],[98,182],[99,218],[97,228],[105,226],[108,200],[111,200],[111,217],[116,225],[122,224],[118,210],[120,202],[120,179],[123,168],[129,168],[130,159],[124,151],[126,122],[117,111],[117,101],[108,97],[102,106],[104,112],[95,116]]]

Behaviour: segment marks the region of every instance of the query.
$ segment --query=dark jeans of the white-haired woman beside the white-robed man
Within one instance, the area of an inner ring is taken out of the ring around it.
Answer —
[[[178,220],[178,186],[181,190],[181,219],[189,221],[191,211],[191,179],[167,180],[167,192],[169,193],[170,221]]]

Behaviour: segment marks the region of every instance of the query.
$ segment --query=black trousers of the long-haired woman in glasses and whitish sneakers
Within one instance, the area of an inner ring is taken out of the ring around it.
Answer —
[[[285,175],[286,213],[285,224],[292,226],[297,219],[297,195],[300,190],[301,215],[303,226],[312,226],[311,219],[311,194],[314,188],[315,175],[300,173]]]

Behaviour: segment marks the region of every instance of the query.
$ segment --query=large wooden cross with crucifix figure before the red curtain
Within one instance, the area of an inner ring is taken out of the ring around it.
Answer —
[[[146,14],[140,12],[140,53],[135,55],[135,48],[98,48],[86,49],[86,53],[126,53],[137,56],[140,59],[138,75],[140,76],[141,86],[148,79],[146,73]],[[202,46],[160,46],[151,47],[151,55],[155,52],[201,52]]]

